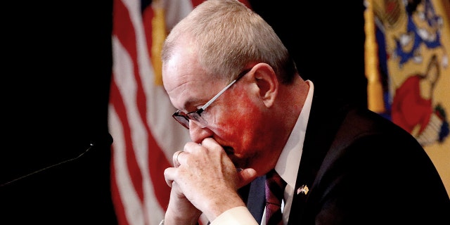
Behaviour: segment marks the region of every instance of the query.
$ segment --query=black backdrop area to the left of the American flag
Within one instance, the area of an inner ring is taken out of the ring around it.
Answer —
[[[112,10],[113,1],[4,6],[0,224],[117,224],[106,143]]]

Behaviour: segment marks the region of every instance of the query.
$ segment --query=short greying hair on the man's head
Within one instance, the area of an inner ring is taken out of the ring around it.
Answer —
[[[231,81],[250,63],[271,65],[283,83],[297,72],[272,27],[237,0],[207,0],[195,7],[167,36],[163,63],[181,38],[193,41],[198,62],[218,79]]]

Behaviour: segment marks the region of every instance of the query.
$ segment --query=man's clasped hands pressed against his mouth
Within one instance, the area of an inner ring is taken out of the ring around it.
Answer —
[[[196,224],[202,212],[213,221],[226,210],[245,206],[237,191],[255,179],[256,172],[238,171],[214,139],[186,143],[173,161],[174,167],[164,172],[172,187],[165,224]]]

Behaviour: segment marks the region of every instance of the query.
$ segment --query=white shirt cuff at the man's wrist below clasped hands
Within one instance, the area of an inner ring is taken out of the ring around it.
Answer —
[[[219,215],[210,225],[258,225],[245,206],[233,207]]]

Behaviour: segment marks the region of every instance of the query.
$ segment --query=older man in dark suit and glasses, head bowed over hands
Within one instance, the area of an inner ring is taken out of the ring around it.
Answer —
[[[416,139],[302,79],[239,1],[200,4],[170,32],[162,61],[172,116],[192,139],[165,170],[163,223],[196,224],[202,213],[212,224],[450,223],[449,196]],[[271,217],[272,174],[285,186]]]

